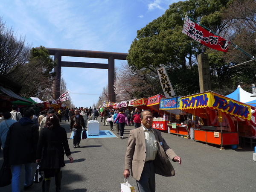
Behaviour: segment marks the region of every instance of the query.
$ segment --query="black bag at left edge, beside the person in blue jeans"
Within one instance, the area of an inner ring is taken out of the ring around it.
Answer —
[[[0,187],[7,186],[12,183],[12,171],[6,160],[3,161],[0,169]]]

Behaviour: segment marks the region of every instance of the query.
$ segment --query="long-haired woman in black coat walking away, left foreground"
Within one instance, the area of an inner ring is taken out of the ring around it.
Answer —
[[[36,162],[41,160],[41,169],[44,171],[43,191],[49,192],[51,177],[55,177],[56,192],[61,190],[61,167],[65,166],[64,150],[72,163],[67,132],[59,125],[58,117],[51,113],[47,116],[45,127],[40,131],[36,151]]]

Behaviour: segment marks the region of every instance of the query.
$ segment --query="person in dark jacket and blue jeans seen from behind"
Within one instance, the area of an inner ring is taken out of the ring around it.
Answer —
[[[32,121],[35,110],[24,110],[23,118],[9,128],[3,150],[3,158],[12,166],[12,192],[20,191],[20,172],[25,165],[24,189],[33,184],[32,163],[35,162],[38,143],[38,127]]]

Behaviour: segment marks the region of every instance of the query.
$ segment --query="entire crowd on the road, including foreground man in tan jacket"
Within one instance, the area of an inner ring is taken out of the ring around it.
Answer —
[[[10,112],[0,113],[0,143],[4,163],[12,166],[13,192],[20,191],[20,172],[23,165],[24,190],[32,186],[33,162],[40,164],[44,171],[42,191],[49,192],[51,178],[55,177],[55,189],[60,192],[61,167],[65,166],[64,152],[70,163],[73,163],[67,132],[60,126],[63,114],[65,122],[70,122],[70,130],[73,131],[74,148],[80,147],[81,133],[86,130],[88,119],[97,120],[101,116],[101,122],[103,121],[104,126],[110,124],[111,131],[115,125],[116,133],[121,139],[124,138],[125,125],[134,125],[128,139],[123,175],[128,178],[131,170],[140,192],[155,191],[155,173],[163,176],[175,175],[168,157],[181,164],[181,158],[166,144],[160,131],[152,128],[154,114],[149,110],[140,112],[138,108],[114,110],[104,107],[93,110],[90,107],[64,110],[60,108],[55,112],[53,108],[49,108],[48,111],[42,111],[39,117],[34,114],[34,109],[26,108],[22,115],[17,111],[17,105],[13,105]]]

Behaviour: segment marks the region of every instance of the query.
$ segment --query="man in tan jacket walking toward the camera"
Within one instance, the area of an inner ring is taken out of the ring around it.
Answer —
[[[142,126],[130,131],[125,155],[124,177],[136,179],[140,192],[155,191],[155,173],[174,176],[168,157],[181,164],[181,158],[166,144],[161,132],[152,128],[153,115],[149,110],[140,113]]]

